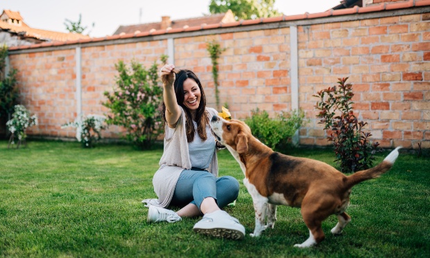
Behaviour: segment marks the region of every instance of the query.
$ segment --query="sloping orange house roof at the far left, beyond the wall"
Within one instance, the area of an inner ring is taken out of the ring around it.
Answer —
[[[51,30],[41,30],[38,28],[31,28],[24,23],[19,12],[12,12],[10,10],[3,10],[3,14],[8,15],[10,19],[19,19],[22,21],[22,26],[17,26],[15,24],[9,24],[5,21],[0,21],[0,30],[8,31],[10,33],[16,33],[24,37],[33,37],[35,39],[41,39],[48,42],[66,42],[70,40],[78,39],[89,39],[88,35],[80,35],[78,33],[59,33]],[[12,18],[14,17],[14,18]]]

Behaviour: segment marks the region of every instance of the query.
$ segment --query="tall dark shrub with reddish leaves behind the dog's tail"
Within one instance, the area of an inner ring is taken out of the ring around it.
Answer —
[[[327,139],[333,143],[336,163],[343,173],[357,172],[372,167],[378,149],[378,142],[370,142],[371,133],[365,133],[367,122],[356,118],[352,110],[352,84],[346,84],[346,78],[338,79],[338,86],[319,91],[315,97],[320,100],[316,109],[320,110],[319,124],[329,130]],[[326,98],[327,97],[327,98]]]

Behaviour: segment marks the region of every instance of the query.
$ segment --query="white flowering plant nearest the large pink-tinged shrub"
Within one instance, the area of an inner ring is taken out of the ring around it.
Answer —
[[[101,139],[101,131],[106,129],[105,120],[105,116],[88,115],[75,122],[68,122],[61,128],[75,127],[76,139],[82,143],[84,148],[92,148],[97,140]]]

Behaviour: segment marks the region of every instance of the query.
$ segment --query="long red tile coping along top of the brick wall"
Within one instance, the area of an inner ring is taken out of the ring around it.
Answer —
[[[9,48],[9,50],[21,50],[27,48],[46,48],[50,46],[64,46],[71,44],[84,44],[89,42],[103,42],[105,40],[114,40],[114,39],[128,39],[135,37],[152,37],[153,35],[164,35],[164,34],[173,34],[173,33],[184,33],[198,30],[212,30],[216,28],[231,28],[231,27],[240,27],[240,26],[250,26],[255,24],[269,24],[273,22],[279,21],[298,21],[304,19],[316,19],[323,17],[334,17],[334,16],[342,16],[342,15],[354,15],[368,12],[381,12],[384,10],[399,10],[413,7],[422,7],[422,6],[430,6],[430,0],[410,0],[402,3],[380,3],[376,6],[367,6],[367,7],[358,7],[354,6],[353,8],[346,8],[341,10],[327,10],[325,12],[318,13],[304,13],[303,15],[290,15],[290,16],[279,16],[279,17],[270,17],[270,18],[261,18],[261,19],[249,19],[249,20],[241,20],[241,21],[233,21],[229,23],[216,23],[216,24],[200,24],[199,26],[190,26],[189,28],[177,28],[177,29],[164,29],[164,30],[150,30],[144,31],[141,33],[128,33],[124,35],[112,35],[107,37],[100,38],[89,38],[89,39],[78,39],[71,42],[61,42],[61,43],[42,43],[42,44],[33,44],[31,46],[14,46]]]

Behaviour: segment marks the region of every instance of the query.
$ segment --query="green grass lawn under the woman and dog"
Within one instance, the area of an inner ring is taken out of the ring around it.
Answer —
[[[331,150],[293,149],[333,165]],[[381,161],[384,154],[378,156]],[[0,257],[429,257],[430,162],[401,154],[393,169],[354,187],[343,234],[323,223],[325,241],[294,248],[309,237],[300,210],[279,207],[273,230],[252,238],[254,209],[239,165],[219,153],[221,175],[241,183],[234,208],[246,228],[243,241],[202,236],[196,219],[146,223],[145,198],[156,197],[152,177],[162,149],[128,145],[82,149],[77,142],[30,141],[7,149],[0,141]]]

